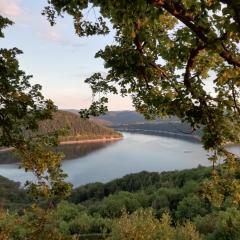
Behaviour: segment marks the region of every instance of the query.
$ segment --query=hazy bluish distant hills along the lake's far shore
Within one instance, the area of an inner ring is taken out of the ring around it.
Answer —
[[[77,110],[69,110],[78,113]],[[150,135],[168,136],[199,142],[202,130],[192,132],[188,123],[182,123],[177,117],[148,121],[135,111],[109,111],[105,115],[91,119],[93,122],[114,128],[117,131],[135,132]]]

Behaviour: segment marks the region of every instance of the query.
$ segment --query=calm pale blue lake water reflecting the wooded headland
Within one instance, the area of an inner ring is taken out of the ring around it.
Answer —
[[[240,155],[239,146],[230,148]],[[124,139],[117,142],[64,145],[60,149],[67,156],[63,169],[75,187],[143,170],[162,172],[210,165],[201,144],[135,133],[124,133]],[[0,164],[0,175],[22,183],[32,178],[18,164]]]

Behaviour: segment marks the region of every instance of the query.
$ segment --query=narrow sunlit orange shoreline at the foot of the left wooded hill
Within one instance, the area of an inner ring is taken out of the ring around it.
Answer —
[[[111,137],[111,138],[96,138],[96,139],[82,139],[82,140],[72,140],[72,141],[62,141],[59,143],[59,145],[71,145],[71,144],[83,144],[83,143],[97,143],[97,142],[114,142],[114,141],[119,141],[122,140],[122,137]],[[10,147],[10,148],[2,148],[0,149],[0,153],[1,152],[10,152],[12,151],[14,148]]]

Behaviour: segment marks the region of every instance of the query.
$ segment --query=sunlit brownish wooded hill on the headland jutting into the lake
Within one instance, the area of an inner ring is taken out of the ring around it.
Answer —
[[[113,129],[81,119],[78,115],[66,111],[57,111],[52,120],[43,121],[39,132],[46,134],[61,128],[68,129],[67,135],[62,137],[61,141],[108,139],[121,136]]]

